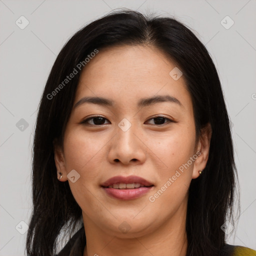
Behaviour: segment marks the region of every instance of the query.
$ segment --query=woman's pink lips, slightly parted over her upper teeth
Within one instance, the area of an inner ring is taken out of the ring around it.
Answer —
[[[109,185],[111,186],[116,183],[125,183],[125,184],[140,183],[141,185],[144,185],[144,186],[138,187],[138,188],[130,188],[130,189],[129,188],[118,189],[118,188],[108,187]],[[153,184],[145,180],[144,178],[132,175],[128,177],[123,177],[123,176],[111,177],[107,179],[104,183],[102,183],[101,186],[104,189],[104,191],[111,197],[114,197],[116,199],[122,199],[122,200],[131,200],[131,199],[138,198],[143,194],[147,193],[152,188]]]

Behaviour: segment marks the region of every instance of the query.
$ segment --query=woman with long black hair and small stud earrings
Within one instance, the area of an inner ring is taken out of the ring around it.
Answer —
[[[175,19],[116,11],[68,40],[41,98],[32,168],[28,255],[255,255],[225,243],[229,118],[207,50]]]

